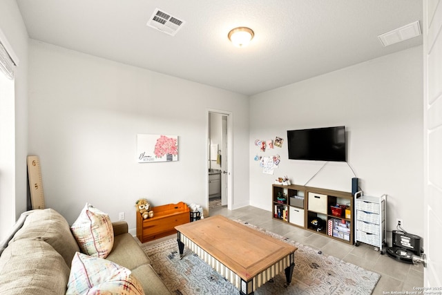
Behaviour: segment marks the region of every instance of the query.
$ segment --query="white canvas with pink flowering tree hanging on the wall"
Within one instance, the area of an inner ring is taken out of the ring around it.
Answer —
[[[137,162],[171,162],[177,160],[177,135],[137,135]]]

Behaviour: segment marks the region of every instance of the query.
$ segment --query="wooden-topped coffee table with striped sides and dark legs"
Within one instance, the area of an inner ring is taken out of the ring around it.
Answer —
[[[211,216],[175,227],[184,245],[229,280],[240,294],[251,294],[284,271],[287,287],[295,266],[294,246],[224,216]]]

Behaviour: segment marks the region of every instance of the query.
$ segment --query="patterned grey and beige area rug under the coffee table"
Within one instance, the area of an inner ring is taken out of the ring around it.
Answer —
[[[284,240],[298,247],[295,252],[295,268],[291,284],[284,287],[285,274],[273,278],[255,291],[261,294],[372,294],[381,277],[362,267],[346,263],[333,256],[301,245],[283,236],[260,229],[247,222],[236,220],[264,234]],[[180,259],[176,239],[165,240],[156,245],[142,245],[152,260],[152,267],[173,294],[240,294],[229,281],[204,263],[188,248]]]

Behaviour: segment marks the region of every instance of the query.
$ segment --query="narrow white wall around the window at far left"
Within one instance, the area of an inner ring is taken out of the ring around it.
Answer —
[[[1,220],[15,222],[19,214],[26,211],[27,168],[26,155],[28,155],[28,32],[15,0],[0,1],[0,28],[12,46],[19,59],[19,66],[15,69],[15,104],[12,114],[13,126],[8,126],[15,133],[15,142],[12,148],[12,165],[1,167],[1,177],[6,176],[8,183],[2,183],[0,193],[8,191],[10,198],[8,208],[1,211]],[[8,173],[8,175],[5,175]],[[12,204],[11,204],[12,203]],[[10,204],[10,205],[9,205]],[[12,207],[12,208],[11,208]],[[1,209],[5,209],[2,207]],[[9,216],[6,218],[5,214]],[[13,224],[13,223],[12,223]],[[11,224],[11,225],[12,225]]]

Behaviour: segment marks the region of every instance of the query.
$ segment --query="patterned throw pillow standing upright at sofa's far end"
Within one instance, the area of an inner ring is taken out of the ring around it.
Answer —
[[[113,247],[113,226],[106,213],[86,203],[74,224],[70,227],[81,252],[106,258]]]

